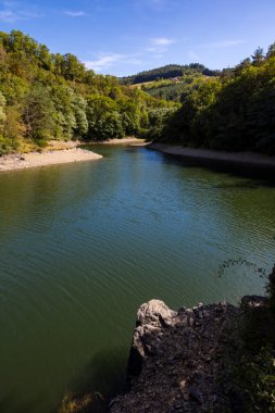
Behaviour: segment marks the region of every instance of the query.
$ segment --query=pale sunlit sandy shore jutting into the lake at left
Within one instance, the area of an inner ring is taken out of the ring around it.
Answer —
[[[101,159],[102,155],[95,152],[71,148],[64,150],[42,151],[10,154],[0,158],[0,172],[25,170],[29,167],[39,167],[47,165],[58,165],[63,163],[73,163],[82,161],[93,161]]]

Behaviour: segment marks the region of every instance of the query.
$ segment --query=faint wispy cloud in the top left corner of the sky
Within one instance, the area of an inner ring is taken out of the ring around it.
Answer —
[[[22,2],[5,0],[0,2],[2,9],[0,10],[0,22],[14,23],[21,20],[29,20],[36,17],[42,17],[42,13],[32,11],[28,7],[24,7]]]

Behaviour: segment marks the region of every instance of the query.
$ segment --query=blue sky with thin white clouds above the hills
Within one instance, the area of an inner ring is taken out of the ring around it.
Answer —
[[[96,73],[224,68],[275,41],[275,0],[0,0],[0,30],[12,29]]]

